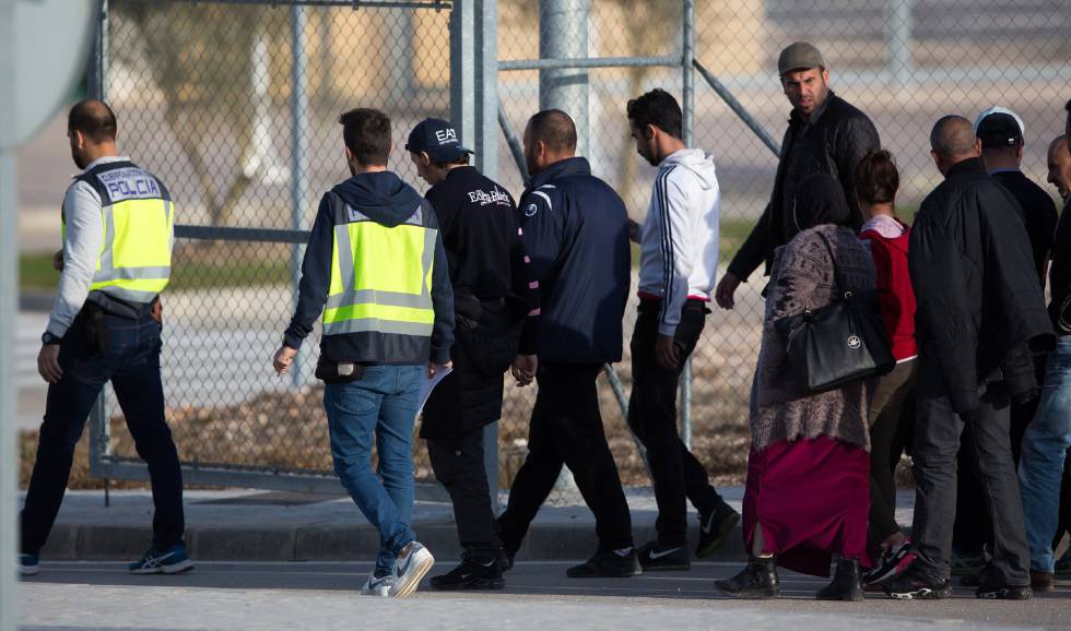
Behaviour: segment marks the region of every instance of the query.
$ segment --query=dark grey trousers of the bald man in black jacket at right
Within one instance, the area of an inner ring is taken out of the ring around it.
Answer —
[[[977,452],[974,469],[981,485],[986,513],[993,531],[992,568],[1009,585],[1029,584],[1029,550],[1023,521],[1019,479],[1009,440],[1009,409],[987,401],[967,418],[952,412],[946,396],[932,392],[940,376],[925,357],[919,360],[918,418],[915,425],[915,526],[913,548],[916,567],[946,579],[952,553],[956,507],[956,454],[965,422],[964,440]],[[930,392],[928,392],[930,391]]]

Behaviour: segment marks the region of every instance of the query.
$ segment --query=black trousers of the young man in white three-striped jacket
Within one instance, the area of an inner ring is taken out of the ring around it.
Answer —
[[[632,394],[628,397],[628,427],[647,449],[647,463],[655,484],[658,519],[655,529],[662,546],[682,546],[687,539],[685,498],[702,514],[721,501],[710,485],[706,468],[692,454],[676,428],[676,393],[684,362],[695,349],[706,320],[706,306],[687,300],[681,310],[673,343],[680,362],[662,368],[655,356],[661,302],[639,302],[632,336]]]

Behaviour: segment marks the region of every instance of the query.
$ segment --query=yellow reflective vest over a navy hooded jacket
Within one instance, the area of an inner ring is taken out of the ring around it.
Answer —
[[[429,337],[432,272],[438,235],[422,202],[405,222],[385,226],[346,204],[334,225],[323,334]]]

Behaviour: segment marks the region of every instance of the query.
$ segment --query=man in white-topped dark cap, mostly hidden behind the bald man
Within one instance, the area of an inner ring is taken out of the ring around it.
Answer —
[[[1020,169],[1023,162],[1024,126],[1022,119],[1010,109],[990,107],[978,115],[975,120],[975,132],[981,142],[981,162],[986,170],[1000,182],[1019,202],[1015,210],[1026,228],[1031,250],[1034,255],[1034,266],[1041,287],[1045,286],[1045,270],[1048,266],[1049,250],[1052,247],[1052,234],[1056,230],[1056,204],[1045,190],[1034,183]],[[1024,378],[1029,378],[1029,357],[1023,368]],[[1039,357],[1035,367],[1035,381],[1044,378],[1044,357]],[[1025,397],[1024,397],[1025,398]],[[1011,448],[1014,462],[1019,463],[1020,445],[1023,432],[1034,418],[1037,409],[1037,397],[1029,401],[1014,401],[1011,406]],[[986,513],[981,485],[972,473],[974,460],[973,429],[964,429],[963,448],[960,450],[958,490],[956,492],[956,523],[953,543],[953,573],[969,573],[972,567],[977,572],[984,569],[982,546],[990,544],[992,528],[989,515]],[[962,584],[977,585],[980,574],[964,578]]]

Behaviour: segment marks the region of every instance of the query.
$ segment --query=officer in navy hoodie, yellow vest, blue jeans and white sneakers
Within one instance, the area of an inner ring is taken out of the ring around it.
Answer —
[[[316,376],[326,382],[334,471],[379,529],[362,594],[404,597],[434,562],[410,526],[412,437],[421,383],[450,364],[454,291],[435,212],[387,170],[390,119],[354,109],[339,122],[353,177],[320,201],[274,368],[290,369],[322,313]]]

